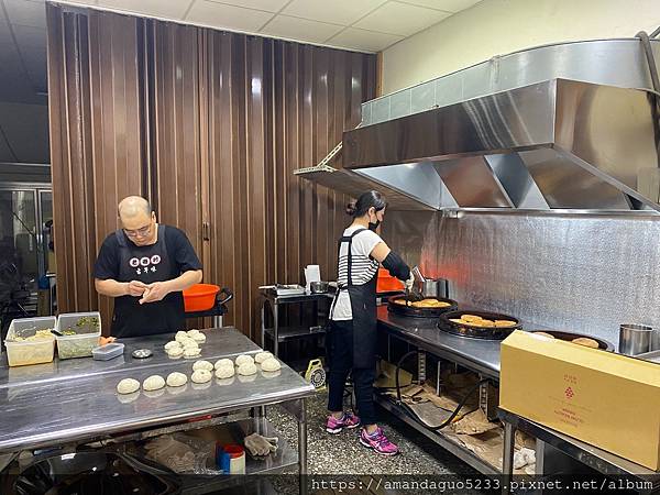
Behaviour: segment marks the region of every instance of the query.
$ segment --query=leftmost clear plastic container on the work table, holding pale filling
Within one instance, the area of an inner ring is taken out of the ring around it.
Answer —
[[[36,340],[15,341],[16,338],[28,339],[38,330],[52,330],[56,326],[55,317],[19,318],[9,324],[4,345],[7,361],[10,366],[51,363],[55,353],[55,336]]]

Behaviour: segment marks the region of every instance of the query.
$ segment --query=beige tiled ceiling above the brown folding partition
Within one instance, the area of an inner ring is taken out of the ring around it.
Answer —
[[[65,0],[64,3],[339,48],[380,52],[479,1]]]

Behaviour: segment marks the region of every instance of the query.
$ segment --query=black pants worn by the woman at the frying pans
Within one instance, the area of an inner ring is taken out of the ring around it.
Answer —
[[[372,367],[353,367],[353,321],[331,321],[326,336],[328,348],[328,410],[343,410],[344,385],[349,373],[353,378],[358,414],[362,425],[376,424],[374,407],[374,380],[376,362]]]

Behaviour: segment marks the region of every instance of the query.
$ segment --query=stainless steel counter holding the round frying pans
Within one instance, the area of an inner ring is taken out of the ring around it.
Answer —
[[[462,364],[485,376],[499,378],[498,340],[470,339],[438,329],[438,319],[392,315],[386,306],[378,307],[378,326],[425,351]]]

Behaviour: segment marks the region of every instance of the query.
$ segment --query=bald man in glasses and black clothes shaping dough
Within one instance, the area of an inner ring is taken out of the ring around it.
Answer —
[[[106,238],[94,265],[99,294],[114,298],[111,334],[169,333],[185,326],[182,292],[201,282],[201,263],[186,234],[160,224],[139,196],[119,204],[122,229]]]

